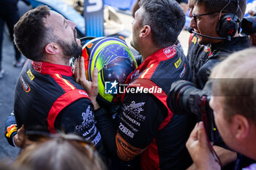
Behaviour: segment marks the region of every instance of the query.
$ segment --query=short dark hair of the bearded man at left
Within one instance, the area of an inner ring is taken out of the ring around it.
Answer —
[[[48,44],[49,28],[43,18],[50,15],[50,8],[39,6],[26,12],[14,27],[14,41],[21,53],[33,61],[43,57],[44,47]]]

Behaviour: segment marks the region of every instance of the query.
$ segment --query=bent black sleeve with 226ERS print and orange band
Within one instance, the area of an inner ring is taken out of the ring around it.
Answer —
[[[123,161],[129,161],[143,152],[154,139],[159,125],[167,116],[167,109],[150,94],[129,93],[124,98],[117,126],[108,115],[96,115],[108,150]]]

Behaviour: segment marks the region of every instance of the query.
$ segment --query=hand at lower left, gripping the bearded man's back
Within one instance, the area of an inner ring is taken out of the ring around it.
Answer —
[[[16,147],[21,147],[21,148],[28,147],[30,144],[33,143],[32,141],[30,141],[29,139],[26,138],[24,125],[22,125],[18,129],[17,134],[15,134],[15,136],[13,136],[13,142]]]

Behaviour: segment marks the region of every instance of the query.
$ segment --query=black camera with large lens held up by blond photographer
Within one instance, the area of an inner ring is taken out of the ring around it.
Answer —
[[[200,90],[186,80],[173,82],[167,96],[167,105],[174,114],[196,115],[197,122],[203,121],[208,139],[214,142],[219,134],[214,123],[213,111],[209,106],[211,84],[211,81],[208,81],[203,90]]]

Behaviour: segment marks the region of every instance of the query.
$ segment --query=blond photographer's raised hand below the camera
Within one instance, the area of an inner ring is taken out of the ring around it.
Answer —
[[[217,170],[221,169],[214,159],[208,141],[203,122],[197,123],[187,141],[187,149],[197,170]]]

